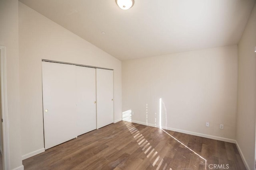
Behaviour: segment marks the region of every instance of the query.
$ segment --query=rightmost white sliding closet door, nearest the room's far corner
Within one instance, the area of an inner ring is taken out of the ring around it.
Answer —
[[[96,68],[97,129],[113,123],[113,70]]]

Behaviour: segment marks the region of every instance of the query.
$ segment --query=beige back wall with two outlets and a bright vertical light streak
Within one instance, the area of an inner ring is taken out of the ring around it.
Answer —
[[[123,61],[122,111],[158,126],[162,98],[163,128],[235,139],[237,61],[237,45]]]

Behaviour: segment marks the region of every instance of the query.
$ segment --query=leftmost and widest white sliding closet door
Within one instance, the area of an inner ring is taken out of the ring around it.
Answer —
[[[44,146],[77,137],[76,66],[42,62]]]

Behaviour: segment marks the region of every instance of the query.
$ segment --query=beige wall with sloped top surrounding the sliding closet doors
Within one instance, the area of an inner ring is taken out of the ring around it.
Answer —
[[[121,119],[121,62],[19,2],[22,155],[44,148],[42,59],[114,69],[114,119]]]

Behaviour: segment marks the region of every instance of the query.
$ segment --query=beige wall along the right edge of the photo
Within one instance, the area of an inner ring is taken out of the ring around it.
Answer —
[[[256,6],[238,44],[238,113],[236,140],[254,169],[256,114]]]

